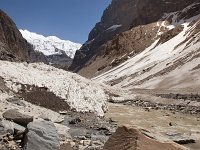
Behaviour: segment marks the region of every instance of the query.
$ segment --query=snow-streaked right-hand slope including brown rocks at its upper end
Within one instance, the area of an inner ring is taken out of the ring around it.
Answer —
[[[152,44],[137,55],[131,56],[137,52],[128,51],[123,58],[130,59],[96,79],[129,89],[195,90],[199,87],[199,8],[200,3],[194,3],[181,11],[165,14],[155,24],[156,29],[153,27],[156,34]]]

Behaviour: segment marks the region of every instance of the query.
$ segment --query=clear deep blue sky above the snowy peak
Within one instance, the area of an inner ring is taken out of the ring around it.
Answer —
[[[1,0],[19,29],[84,43],[111,0]]]

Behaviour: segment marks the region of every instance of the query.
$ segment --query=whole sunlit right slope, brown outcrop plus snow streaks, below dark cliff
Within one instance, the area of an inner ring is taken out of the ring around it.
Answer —
[[[165,14],[155,23],[114,36],[79,73],[96,75],[93,80],[129,90],[198,92],[199,61],[200,3],[197,1]],[[113,65],[118,66],[112,68]]]

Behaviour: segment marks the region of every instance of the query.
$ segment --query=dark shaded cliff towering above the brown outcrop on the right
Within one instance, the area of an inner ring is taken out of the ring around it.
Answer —
[[[94,57],[102,54],[99,51],[103,45],[107,47],[105,44],[108,41],[137,26],[155,23],[164,14],[179,11],[194,2],[196,0],[113,0],[104,11],[101,21],[90,32],[88,41],[76,52],[70,69],[82,72],[83,68],[92,64]]]

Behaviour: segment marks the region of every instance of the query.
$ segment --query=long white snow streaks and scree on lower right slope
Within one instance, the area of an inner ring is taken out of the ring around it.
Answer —
[[[177,36],[158,46],[159,40],[156,40],[142,53],[93,80],[105,83],[117,81],[116,86],[128,89],[175,89],[200,85],[199,70],[191,71],[199,65],[200,61],[198,56],[200,54],[200,33],[190,37],[197,24],[200,24],[199,19],[200,15],[188,20],[180,20],[184,29]],[[197,22],[189,26],[194,20]],[[182,63],[183,60],[185,64]],[[181,65],[178,64],[180,62]],[[175,69],[170,70],[170,67],[175,67]],[[167,68],[171,71],[170,73]],[[163,75],[161,71],[168,75]]]

